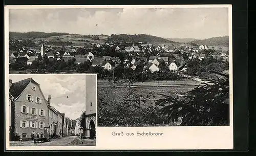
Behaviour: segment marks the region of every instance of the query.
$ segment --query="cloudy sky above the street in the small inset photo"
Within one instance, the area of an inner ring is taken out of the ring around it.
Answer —
[[[96,86],[96,79],[95,83],[86,84],[86,77],[88,77],[86,75],[9,75],[13,83],[30,77],[40,84],[46,100],[48,95],[51,95],[51,105],[73,120],[79,118],[82,111],[86,109],[85,86]],[[96,101],[96,93],[91,96],[95,96]]]

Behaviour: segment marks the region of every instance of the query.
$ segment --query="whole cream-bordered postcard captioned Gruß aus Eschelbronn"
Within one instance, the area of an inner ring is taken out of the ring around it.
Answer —
[[[231,13],[5,6],[6,150],[233,149]]]

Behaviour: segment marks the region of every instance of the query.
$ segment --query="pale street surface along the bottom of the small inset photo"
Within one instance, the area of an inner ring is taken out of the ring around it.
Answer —
[[[71,136],[51,139],[50,142],[36,144],[34,144],[33,140],[11,141],[10,146],[96,146],[96,140],[81,140],[77,136]]]

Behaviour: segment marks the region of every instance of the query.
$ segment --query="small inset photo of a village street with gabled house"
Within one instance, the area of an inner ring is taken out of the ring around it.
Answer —
[[[9,146],[96,146],[96,75],[9,75]]]

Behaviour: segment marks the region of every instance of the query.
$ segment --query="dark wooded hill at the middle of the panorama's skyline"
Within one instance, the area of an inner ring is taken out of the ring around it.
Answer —
[[[135,34],[135,35],[127,35],[127,34],[119,34],[119,35],[111,35],[112,40],[119,41],[133,41],[133,42],[166,42],[166,43],[176,43],[172,40],[168,40],[165,38],[146,35],[146,34]]]

